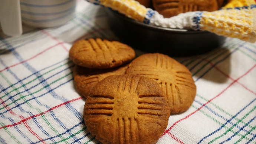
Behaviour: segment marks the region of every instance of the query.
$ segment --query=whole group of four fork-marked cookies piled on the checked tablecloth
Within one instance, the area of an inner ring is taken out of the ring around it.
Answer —
[[[164,54],[135,58],[128,45],[96,38],[77,41],[69,57],[86,127],[103,144],[154,144],[196,95],[190,71]]]

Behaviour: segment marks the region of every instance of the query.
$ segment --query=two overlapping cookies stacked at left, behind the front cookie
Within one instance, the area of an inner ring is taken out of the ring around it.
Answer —
[[[76,89],[87,98],[90,90],[109,75],[122,75],[135,51],[118,41],[90,38],[75,42],[69,58],[76,64],[73,75]]]

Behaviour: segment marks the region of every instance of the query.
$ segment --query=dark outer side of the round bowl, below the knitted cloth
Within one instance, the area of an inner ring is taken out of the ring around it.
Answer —
[[[148,25],[109,8],[105,10],[109,27],[120,41],[144,52],[159,52],[170,56],[198,55],[219,47],[226,39],[208,31]]]

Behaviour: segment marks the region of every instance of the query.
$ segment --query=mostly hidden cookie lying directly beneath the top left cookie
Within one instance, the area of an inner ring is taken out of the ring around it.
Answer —
[[[125,74],[128,64],[109,69],[90,69],[75,65],[73,70],[74,85],[78,93],[87,98],[91,89],[102,79],[110,75]]]

